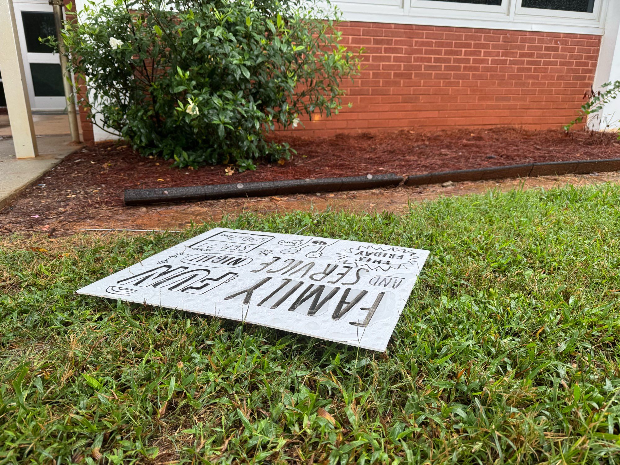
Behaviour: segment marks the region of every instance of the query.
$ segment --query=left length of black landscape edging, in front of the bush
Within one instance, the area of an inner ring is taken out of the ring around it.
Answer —
[[[216,200],[232,197],[267,197],[269,195],[337,192],[399,185],[404,180],[396,174],[368,174],[366,176],[329,177],[322,179],[292,179],[235,184],[212,184],[192,187],[154,189],[126,189],[125,205],[148,205],[187,200]]]

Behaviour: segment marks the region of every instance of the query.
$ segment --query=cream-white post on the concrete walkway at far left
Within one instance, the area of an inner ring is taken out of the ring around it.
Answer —
[[[0,72],[17,158],[38,154],[12,0],[0,0]]]

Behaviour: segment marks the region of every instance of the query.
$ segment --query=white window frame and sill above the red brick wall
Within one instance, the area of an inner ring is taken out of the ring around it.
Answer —
[[[481,29],[532,30],[603,35],[610,1],[595,0],[592,13],[521,6],[521,0],[502,0],[502,6],[437,0],[332,0],[350,21],[419,24]]]

